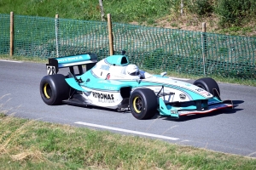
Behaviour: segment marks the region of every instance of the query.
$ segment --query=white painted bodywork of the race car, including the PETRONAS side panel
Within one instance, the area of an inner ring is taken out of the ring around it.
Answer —
[[[202,88],[196,87],[193,84],[188,82],[177,81],[167,77],[154,77],[153,75],[149,74],[148,72],[140,70],[140,76],[130,76],[125,74],[125,68],[127,65],[109,65],[105,62],[104,59],[99,61],[91,70],[92,74],[95,75],[97,78],[102,80],[119,80],[119,81],[137,81],[137,83],[142,82],[152,82],[155,85],[150,86],[138,86],[137,88],[150,88],[154,91],[155,94],[158,94],[162,88],[161,84],[165,87],[161,90],[160,96],[162,95],[162,99],[165,103],[170,102],[185,102],[191,99],[190,95],[185,92],[183,89],[189,89],[195,92],[196,94],[202,95],[206,99],[212,98],[212,94],[209,94]],[[100,82],[99,82],[100,83]],[[156,85],[160,84],[160,85]],[[114,82],[113,82],[114,84]],[[167,86],[166,86],[167,85]],[[171,88],[172,87],[175,88]],[[169,86],[169,87],[168,87]],[[104,88],[104,87],[102,87]],[[89,95],[84,94],[84,99],[86,102],[91,104],[96,104],[99,106],[109,106],[114,107],[119,105],[122,101],[122,96],[120,95],[118,90],[113,90],[111,87],[105,90],[93,90]],[[86,91],[91,91],[90,88],[85,88]],[[131,93],[135,88],[131,89]]]

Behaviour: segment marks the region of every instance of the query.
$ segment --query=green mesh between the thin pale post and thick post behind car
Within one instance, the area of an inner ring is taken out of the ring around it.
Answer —
[[[108,56],[108,26],[105,22],[59,19],[59,56],[95,53]]]

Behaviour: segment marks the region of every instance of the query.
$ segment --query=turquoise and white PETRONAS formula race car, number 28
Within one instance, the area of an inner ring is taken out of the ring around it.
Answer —
[[[66,76],[57,74],[69,67]],[[74,67],[78,67],[75,73]],[[48,75],[40,82],[40,94],[47,105],[100,106],[131,111],[137,119],[161,116],[205,114],[233,108],[231,100],[221,100],[217,82],[210,77],[191,84],[151,75],[132,65],[125,54],[111,55],[97,62],[96,54],[49,59]]]

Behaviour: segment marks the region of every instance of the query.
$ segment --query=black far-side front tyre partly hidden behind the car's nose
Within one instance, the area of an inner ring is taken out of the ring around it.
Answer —
[[[218,83],[215,82],[215,80],[213,80],[211,77],[198,79],[194,82],[194,85],[198,86],[199,88],[203,88],[212,95],[214,94],[213,88],[215,88],[218,91],[218,94],[220,95]]]

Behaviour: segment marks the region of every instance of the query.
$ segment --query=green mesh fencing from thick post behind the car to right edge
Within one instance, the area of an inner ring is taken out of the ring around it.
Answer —
[[[256,78],[256,38],[113,24],[114,49],[147,69]],[[205,56],[205,62],[203,57]],[[205,63],[205,67],[204,64]]]

